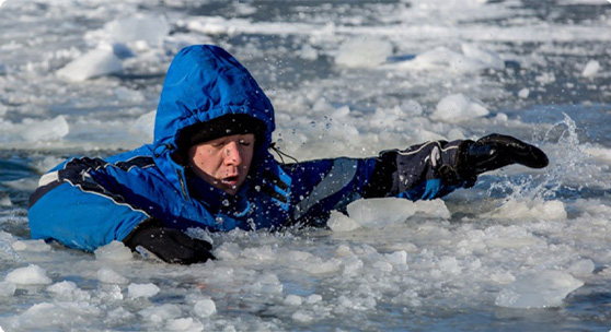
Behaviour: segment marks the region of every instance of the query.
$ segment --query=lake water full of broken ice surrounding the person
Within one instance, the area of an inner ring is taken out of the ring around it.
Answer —
[[[608,331],[610,29],[603,0],[0,0],[0,327]],[[204,43],[251,70],[300,161],[496,131],[551,165],[330,229],[194,230],[219,258],[194,266],[31,240],[39,175],[150,142],[170,60]]]

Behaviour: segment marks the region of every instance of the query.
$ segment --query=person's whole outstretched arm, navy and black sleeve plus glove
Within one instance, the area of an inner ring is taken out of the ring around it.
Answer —
[[[472,187],[482,173],[510,164],[547,165],[538,147],[508,135],[435,141],[389,150],[372,158],[335,158],[286,165],[293,178],[293,220],[324,220],[359,198],[431,200]]]

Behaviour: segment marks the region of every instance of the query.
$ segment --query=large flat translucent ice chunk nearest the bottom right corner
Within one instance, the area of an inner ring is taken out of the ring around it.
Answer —
[[[584,282],[562,271],[546,270],[526,275],[507,285],[497,295],[495,304],[509,308],[549,308],[562,300]]]

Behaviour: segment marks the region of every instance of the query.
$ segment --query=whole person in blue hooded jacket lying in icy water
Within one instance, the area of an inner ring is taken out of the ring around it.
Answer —
[[[30,201],[32,238],[93,251],[113,240],[171,263],[212,259],[191,227],[278,229],[324,224],[359,198],[429,200],[545,154],[515,138],[437,141],[370,158],[277,162],[274,107],[249,71],[223,49],[198,45],[173,59],[154,140],[108,158],[71,158],[39,180]]]

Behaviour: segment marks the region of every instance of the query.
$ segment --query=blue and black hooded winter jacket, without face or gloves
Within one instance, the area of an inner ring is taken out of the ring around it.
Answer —
[[[189,176],[175,162],[182,129],[228,114],[266,124],[235,195]],[[168,70],[153,143],[105,159],[71,158],[45,174],[31,197],[32,238],[95,250],[151,217],[180,229],[278,228],[324,220],[362,197],[433,199],[460,187],[439,177],[427,158],[433,151],[445,156],[457,144],[285,165],[269,153],[274,129],[274,108],[242,64],[216,46],[184,48]]]

